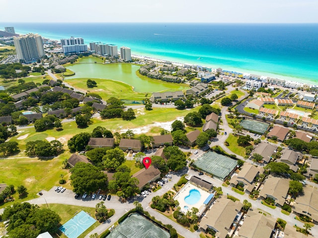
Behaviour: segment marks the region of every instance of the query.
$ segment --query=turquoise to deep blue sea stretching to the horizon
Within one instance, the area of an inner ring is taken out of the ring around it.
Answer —
[[[318,24],[0,23],[17,33],[82,37],[132,54],[318,84]],[[199,59],[200,58],[200,59]]]

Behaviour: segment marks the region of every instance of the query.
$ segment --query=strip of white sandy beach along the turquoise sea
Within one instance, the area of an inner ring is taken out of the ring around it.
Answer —
[[[16,34],[24,35],[27,33],[16,32]],[[40,34],[45,39],[60,41],[60,39],[52,39],[52,38],[46,37],[45,34],[41,34],[41,33],[38,33],[38,34]],[[87,43],[85,43],[85,44],[87,44]],[[89,43],[87,45],[89,45]],[[117,44],[117,45],[119,45],[119,44]],[[228,65],[216,66],[216,65],[211,65],[209,63],[204,64],[203,62],[202,62],[203,63],[202,65],[199,64],[199,62],[198,62],[198,64],[194,64],[194,62],[191,60],[175,59],[175,58],[170,58],[170,57],[165,57],[165,59],[164,59],[164,57],[151,55],[151,54],[150,54],[150,56],[147,56],[147,55],[144,55],[143,52],[136,52],[136,54],[132,54],[132,57],[146,59],[146,60],[152,60],[152,61],[160,62],[160,63],[172,63],[173,65],[179,66],[179,67],[184,66],[184,65],[189,65],[189,66],[194,66],[194,67],[199,66],[199,67],[207,68],[207,69],[222,68],[222,70],[230,71],[230,72],[233,71],[233,72],[238,72],[241,74],[259,75],[261,78],[269,77],[269,78],[275,78],[275,79],[284,79],[286,82],[297,82],[297,83],[302,83],[302,84],[308,84],[310,86],[311,85],[313,85],[313,86],[318,85],[318,82],[316,82],[314,79],[298,78],[298,77],[293,77],[293,76],[275,74],[275,73],[271,73],[271,72],[255,71],[255,70],[248,70],[248,69],[246,70],[246,69],[240,69],[238,67],[228,66]],[[180,62],[182,62],[182,63],[180,63]]]

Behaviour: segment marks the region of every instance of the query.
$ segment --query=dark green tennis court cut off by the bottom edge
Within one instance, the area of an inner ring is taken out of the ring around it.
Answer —
[[[119,224],[107,238],[169,238],[170,234],[135,213]]]

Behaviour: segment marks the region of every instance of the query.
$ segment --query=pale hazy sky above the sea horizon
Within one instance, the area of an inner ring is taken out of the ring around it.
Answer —
[[[0,0],[0,22],[318,22],[318,0]]]

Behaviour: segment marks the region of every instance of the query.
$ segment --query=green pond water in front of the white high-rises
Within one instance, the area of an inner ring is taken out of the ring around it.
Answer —
[[[180,83],[166,83],[158,79],[141,79],[136,75],[140,66],[132,64],[94,64],[100,62],[93,57],[80,59],[77,64],[68,65],[66,68],[75,72],[74,76],[65,79],[111,79],[127,83],[134,87],[136,92],[158,92],[169,89],[170,91],[184,90],[189,87]]]

